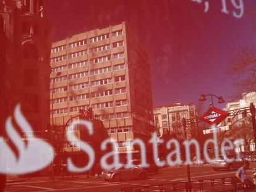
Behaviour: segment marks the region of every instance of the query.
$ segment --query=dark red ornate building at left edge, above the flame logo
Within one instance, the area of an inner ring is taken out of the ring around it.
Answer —
[[[33,130],[49,128],[49,28],[44,1],[0,2],[0,133],[17,104]]]

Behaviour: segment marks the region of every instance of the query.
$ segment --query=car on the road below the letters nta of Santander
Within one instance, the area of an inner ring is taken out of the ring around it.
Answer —
[[[143,180],[147,177],[147,170],[139,166],[127,167],[126,165],[119,165],[115,169],[104,170],[101,173],[101,178],[111,182],[120,182],[121,180],[132,180],[136,178]]]

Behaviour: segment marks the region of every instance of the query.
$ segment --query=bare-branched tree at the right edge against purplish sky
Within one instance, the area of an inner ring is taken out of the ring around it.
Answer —
[[[229,74],[234,78],[236,93],[233,99],[256,91],[256,52],[252,48],[240,48],[237,51],[237,59],[229,69]]]

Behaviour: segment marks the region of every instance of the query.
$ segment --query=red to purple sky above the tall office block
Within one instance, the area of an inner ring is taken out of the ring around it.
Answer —
[[[204,2],[210,5],[206,13]],[[229,14],[221,12],[221,2],[46,0],[46,14],[53,25],[53,41],[127,21],[148,49],[153,105],[197,104],[202,93],[228,101],[234,88],[227,70],[236,50],[255,46],[255,1],[243,1],[241,19],[233,16],[239,10],[229,0]]]

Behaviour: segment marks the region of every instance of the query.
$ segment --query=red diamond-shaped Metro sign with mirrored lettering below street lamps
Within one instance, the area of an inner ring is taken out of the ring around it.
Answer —
[[[229,115],[228,112],[222,111],[221,109],[210,107],[208,111],[200,117],[201,120],[207,122],[209,124],[218,125],[221,121],[223,121]]]

